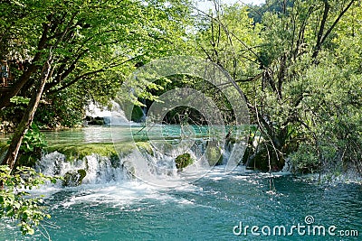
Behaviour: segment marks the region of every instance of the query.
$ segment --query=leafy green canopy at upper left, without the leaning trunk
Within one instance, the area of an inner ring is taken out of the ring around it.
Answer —
[[[109,105],[138,64],[191,49],[186,33],[192,22],[187,0],[111,0],[101,4],[20,0],[0,5],[0,28],[7,30],[0,55],[29,58],[36,67],[28,79],[14,76],[14,82],[25,79],[21,97],[31,97],[46,52],[52,48],[52,76],[35,114],[43,127],[80,125],[85,106],[90,101]],[[152,95],[145,93],[145,97]],[[13,100],[20,103],[18,98]],[[5,119],[22,116],[13,114],[4,113]]]

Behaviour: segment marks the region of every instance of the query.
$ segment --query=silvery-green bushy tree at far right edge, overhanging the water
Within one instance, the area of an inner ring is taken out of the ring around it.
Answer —
[[[360,5],[354,5],[345,14],[321,52],[319,64],[307,70],[303,79],[308,95],[300,103],[301,120],[309,126],[304,130],[309,138],[292,155],[302,171],[317,164],[319,170],[335,174],[362,173],[361,11]],[[306,148],[315,162],[303,162]]]

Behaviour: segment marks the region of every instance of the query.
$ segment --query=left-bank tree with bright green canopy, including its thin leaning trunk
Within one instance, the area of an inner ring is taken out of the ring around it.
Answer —
[[[0,109],[9,107],[12,97],[32,97],[5,158],[11,167],[42,97],[52,103],[73,87],[81,104],[114,96],[126,68],[177,50],[189,13],[183,1],[23,0],[2,2],[1,8],[7,45],[2,55],[31,59],[11,91],[0,96]]]

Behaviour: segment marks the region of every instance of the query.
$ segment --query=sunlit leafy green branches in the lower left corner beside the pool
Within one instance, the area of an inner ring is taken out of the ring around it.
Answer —
[[[45,181],[55,183],[57,178],[44,176],[31,168],[18,167],[10,174],[7,166],[0,166],[0,218],[14,218],[24,235],[33,235],[44,218],[42,198],[33,198],[26,190],[38,188]]]

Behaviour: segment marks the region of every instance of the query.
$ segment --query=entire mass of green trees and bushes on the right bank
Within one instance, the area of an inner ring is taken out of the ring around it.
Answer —
[[[349,3],[271,0],[254,24],[256,11],[224,6],[202,22],[205,57],[239,81],[264,139],[247,163],[362,171],[362,8]]]

